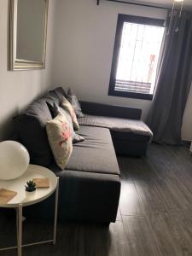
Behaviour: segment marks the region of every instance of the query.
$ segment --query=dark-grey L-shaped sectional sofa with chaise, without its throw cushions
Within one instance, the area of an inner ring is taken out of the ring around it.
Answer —
[[[61,221],[115,222],[120,195],[115,150],[117,154],[145,154],[152,133],[139,120],[140,109],[81,102],[85,117],[79,119],[79,134],[85,140],[73,144],[73,154],[67,167],[60,170],[49,148],[45,124],[52,119],[46,102],[59,104],[61,96],[65,96],[61,88],[49,91],[16,116],[14,127],[17,140],[28,149],[32,164],[46,166],[60,177]],[[125,125],[122,125],[123,120]],[[27,211],[26,207],[26,215],[31,212],[34,218],[38,212],[38,217],[40,211],[46,218],[53,212],[53,206],[51,197],[33,206],[33,211]]]

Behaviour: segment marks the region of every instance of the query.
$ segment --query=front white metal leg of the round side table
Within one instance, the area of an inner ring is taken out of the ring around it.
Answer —
[[[18,250],[18,256],[21,256],[22,254],[22,211],[23,207],[20,204],[18,207],[18,213],[17,213],[17,250]]]

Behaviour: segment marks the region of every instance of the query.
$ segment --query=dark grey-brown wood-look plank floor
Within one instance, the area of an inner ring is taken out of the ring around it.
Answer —
[[[143,158],[119,157],[122,190],[115,224],[58,224],[56,246],[23,255],[192,255],[192,156],[185,147],[152,144]],[[51,237],[48,224],[25,222],[25,242]],[[15,219],[0,212],[0,245],[15,243]],[[16,252],[0,253],[13,256]]]

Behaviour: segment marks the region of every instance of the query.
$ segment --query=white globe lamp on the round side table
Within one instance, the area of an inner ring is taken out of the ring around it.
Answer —
[[[29,166],[29,154],[26,148],[15,141],[0,143],[0,180],[20,177]]]

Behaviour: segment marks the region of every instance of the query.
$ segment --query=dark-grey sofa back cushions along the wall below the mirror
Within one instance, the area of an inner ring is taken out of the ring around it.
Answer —
[[[46,133],[46,123],[52,117],[46,102],[59,105],[64,95],[61,88],[51,90],[14,118],[15,135],[28,150],[32,164],[49,166],[53,160]]]

